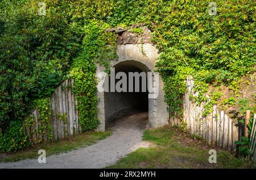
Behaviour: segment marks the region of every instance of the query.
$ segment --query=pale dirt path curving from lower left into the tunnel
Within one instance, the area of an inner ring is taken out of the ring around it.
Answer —
[[[39,164],[37,159],[33,159],[1,163],[0,168],[105,168],[126,154],[151,145],[142,141],[147,122],[147,112],[134,112],[115,120],[110,127],[112,136],[94,145],[46,157],[46,164]]]

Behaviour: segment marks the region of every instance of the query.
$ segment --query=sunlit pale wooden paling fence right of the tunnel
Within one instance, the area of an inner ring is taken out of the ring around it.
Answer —
[[[187,123],[187,129],[192,135],[197,135],[208,144],[218,145],[230,152],[236,150],[235,141],[239,140],[240,128],[237,121],[229,118],[224,111],[213,106],[212,113],[203,117],[204,104],[198,106],[189,99],[189,94],[196,95],[193,91],[193,79],[187,78],[187,92],[184,95],[183,119]],[[180,125],[176,118],[170,118],[172,125]]]

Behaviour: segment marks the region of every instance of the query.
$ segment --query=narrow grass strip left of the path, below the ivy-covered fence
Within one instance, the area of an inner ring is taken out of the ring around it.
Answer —
[[[89,146],[96,143],[98,140],[105,139],[110,136],[111,132],[85,132],[78,136],[68,137],[68,139],[54,141],[42,146],[34,146],[31,149],[20,150],[11,154],[0,154],[0,162],[20,161],[27,158],[37,158],[39,156],[38,150],[46,150],[46,156],[52,154],[59,154],[69,152],[73,149],[78,149],[83,146]]]

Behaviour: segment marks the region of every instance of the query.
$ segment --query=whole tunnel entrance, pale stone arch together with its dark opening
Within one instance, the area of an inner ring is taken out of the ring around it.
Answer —
[[[103,91],[101,85],[105,80],[102,81],[102,77],[105,79],[105,77],[108,77],[108,74],[106,75],[105,73],[105,75],[102,76],[106,69],[103,65],[96,64],[96,77],[98,79],[97,97],[100,99],[97,104],[97,117],[100,120],[98,131],[105,131],[106,124],[108,124],[109,120],[113,119],[113,117],[125,114],[126,111],[133,109],[146,111],[148,115],[148,125],[152,128],[163,127],[163,125],[168,124],[170,117],[168,105],[164,102],[163,81],[160,74],[155,72],[156,58],[159,57],[158,50],[154,45],[149,43],[118,44],[117,55],[118,60],[110,60],[110,68],[115,68],[114,75],[123,72],[126,74],[126,77],[129,78],[127,73],[144,72],[146,73],[146,80],[143,82],[147,83],[146,87],[148,87],[148,91],[133,91],[133,93],[129,91]],[[119,79],[115,81],[114,85],[109,83],[110,86],[113,85],[115,89],[117,82],[119,82]],[[138,86],[140,89],[144,87],[142,82],[139,82]],[[149,88],[149,86],[152,88]],[[128,89],[130,87],[130,85],[127,86]],[[120,86],[120,88],[122,87]]]

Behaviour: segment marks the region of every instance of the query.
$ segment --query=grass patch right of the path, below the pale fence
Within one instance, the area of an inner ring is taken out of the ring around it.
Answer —
[[[108,168],[255,168],[253,162],[205,145],[177,128],[146,130],[143,139],[155,146],[137,149]],[[210,149],[217,151],[216,164],[208,161]]]

